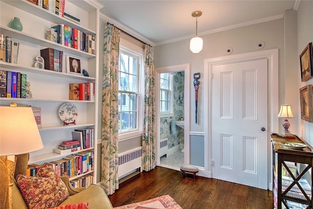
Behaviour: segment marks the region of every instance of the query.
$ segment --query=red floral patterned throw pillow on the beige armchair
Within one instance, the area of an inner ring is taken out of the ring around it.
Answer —
[[[44,164],[36,176],[18,175],[16,181],[29,209],[53,208],[69,196],[67,186],[49,164]]]

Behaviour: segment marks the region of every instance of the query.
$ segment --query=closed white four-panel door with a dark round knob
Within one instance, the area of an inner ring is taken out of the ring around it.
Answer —
[[[267,189],[268,60],[212,68],[212,177]]]

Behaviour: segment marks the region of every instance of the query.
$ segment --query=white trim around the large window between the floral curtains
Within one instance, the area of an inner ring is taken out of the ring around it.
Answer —
[[[137,128],[131,131],[121,132],[118,134],[118,140],[133,139],[142,136],[143,134],[143,94],[144,94],[144,63],[143,63],[143,48],[136,46],[124,39],[120,40],[120,50],[127,50],[139,57],[139,76],[138,76],[138,124]]]

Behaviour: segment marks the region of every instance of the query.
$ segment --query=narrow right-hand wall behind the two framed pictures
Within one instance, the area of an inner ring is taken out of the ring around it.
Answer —
[[[310,43],[313,42],[313,1],[302,0],[297,11],[297,23],[298,23],[298,58],[303,49]],[[306,82],[301,82],[300,75],[300,61],[298,59],[298,104],[300,104],[299,89],[308,85],[313,84],[313,78]],[[298,136],[308,141],[313,145],[313,123],[302,120],[300,105],[298,107],[298,120],[299,130]]]

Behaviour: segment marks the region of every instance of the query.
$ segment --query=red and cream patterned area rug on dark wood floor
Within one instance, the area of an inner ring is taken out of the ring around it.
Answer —
[[[113,209],[182,209],[170,195],[156,197],[150,200],[120,206]]]

